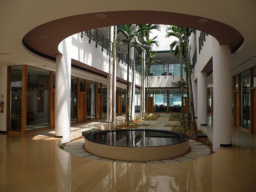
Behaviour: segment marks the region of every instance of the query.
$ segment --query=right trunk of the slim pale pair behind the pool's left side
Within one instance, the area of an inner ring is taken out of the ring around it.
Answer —
[[[109,53],[110,54],[110,53]],[[116,66],[116,26],[114,26],[114,39],[113,39],[113,76],[112,76],[112,122],[111,127],[116,127],[116,122],[114,119],[114,108],[115,108],[115,66]]]

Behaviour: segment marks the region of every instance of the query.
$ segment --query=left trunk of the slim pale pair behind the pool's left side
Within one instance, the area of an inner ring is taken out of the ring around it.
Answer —
[[[111,53],[110,53],[110,48],[111,48],[111,26],[109,26],[109,41],[108,41],[108,130],[111,129],[111,96],[110,96],[110,90],[111,90]]]

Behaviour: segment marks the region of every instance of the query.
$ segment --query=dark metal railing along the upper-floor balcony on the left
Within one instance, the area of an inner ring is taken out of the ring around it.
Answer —
[[[91,40],[95,41],[96,42],[95,47],[98,47],[98,44],[99,44],[102,47],[101,51],[106,49],[108,54],[109,39],[108,37],[103,35],[98,29],[90,29],[90,30],[84,31],[81,34],[81,38],[83,37],[83,35],[86,35],[89,37],[89,43],[91,43]],[[113,45],[113,42],[110,42],[110,43],[111,45]],[[113,57],[113,46],[111,47],[112,47],[111,56]],[[122,62],[122,64],[124,62],[124,65],[126,66],[126,64],[128,63],[128,56],[118,47],[116,48],[116,57],[118,58],[118,62]],[[130,69],[128,70],[132,70],[133,60],[131,58],[129,59],[130,59]],[[136,73],[141,75],[141,67],[137,63],[135,63],[135,71]]]

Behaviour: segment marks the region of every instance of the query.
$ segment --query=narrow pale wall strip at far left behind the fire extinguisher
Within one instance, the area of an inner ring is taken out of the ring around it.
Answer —
[[[6,82],[7,66],[0,66],[0,82]],[[4,95],[4,98],[2,98]],[[6,101],[7,101],[7,83],[2,83],[0,86],[0,100],[4,101],[4,112],[0,113],[0,131],[6,131]]]

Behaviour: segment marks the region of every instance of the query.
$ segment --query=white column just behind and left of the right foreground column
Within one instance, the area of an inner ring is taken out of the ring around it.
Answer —
[[[197,73],[197,127],[207,125],[207,73]]]

